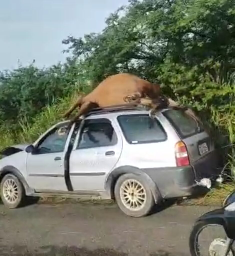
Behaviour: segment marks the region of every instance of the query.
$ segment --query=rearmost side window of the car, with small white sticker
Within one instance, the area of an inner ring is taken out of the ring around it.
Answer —
[[[118,122],[130,144],[161,142],[167,139],[159,121],[148,115],[121,115]]]

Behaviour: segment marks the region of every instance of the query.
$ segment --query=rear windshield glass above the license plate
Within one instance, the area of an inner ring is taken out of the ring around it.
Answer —
[[[203,131],[203,128],[182,110],[167,110],[164,116],[170,121],[181,138],[186,138]]]

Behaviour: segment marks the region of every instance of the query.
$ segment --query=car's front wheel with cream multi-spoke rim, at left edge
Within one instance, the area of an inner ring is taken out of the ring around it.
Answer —
[[[7,174],[1,182],[3,204],[10,209],[20,206],[25,198],[25,190],[20,180],[13,174]]]

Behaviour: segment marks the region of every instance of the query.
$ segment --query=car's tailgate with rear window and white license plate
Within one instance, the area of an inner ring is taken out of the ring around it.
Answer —
[[[163,114],[185,143],[196,177],[200,179],[218,174],[220,168],[215,145],[204,128],[182,110],[170,109]]]

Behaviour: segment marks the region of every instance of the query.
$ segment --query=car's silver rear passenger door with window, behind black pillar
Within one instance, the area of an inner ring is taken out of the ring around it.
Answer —
[[[106,175],[121,155],[122,138],[108,119],[84,121],[70,155],[73,190],[104,190]]]

